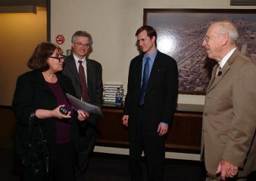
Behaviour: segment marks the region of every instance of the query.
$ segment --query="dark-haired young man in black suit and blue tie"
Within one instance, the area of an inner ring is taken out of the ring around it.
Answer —
[[[144,151],[148,180],[163,180],[164,138],[171,124],[178,90],[177,63],[156,48],[157,34],[143,25],[136,32],[143,54],[129,68],[123,124],[129,128],[132,180],[143,180]]]

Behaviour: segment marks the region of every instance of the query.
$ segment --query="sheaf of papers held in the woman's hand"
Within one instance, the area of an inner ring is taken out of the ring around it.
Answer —
[[[71,96],[70,94],[66,93],[68,101],[72,105],[74,110],[83,110],[84,112],[95,113],[97,115],[102,115],[102,111],[98,106],[91,105],[90,103],[86,103],[81,101],[80,99]]]

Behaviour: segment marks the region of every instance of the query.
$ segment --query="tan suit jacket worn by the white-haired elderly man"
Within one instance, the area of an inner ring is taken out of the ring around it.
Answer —
[[[215,174],[224,159],[239,167],[238,177],[245,177],[256,170],[256,65],[237,49],[222,74],[214,78],[215,73],[216,66],[205,95],[205,168]]]

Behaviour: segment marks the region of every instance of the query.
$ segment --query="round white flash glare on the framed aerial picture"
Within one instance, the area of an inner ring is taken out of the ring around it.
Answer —
[[[172,31],[164,30],[157,34],[157,49],[171,57],[177,53],[178,37]]]

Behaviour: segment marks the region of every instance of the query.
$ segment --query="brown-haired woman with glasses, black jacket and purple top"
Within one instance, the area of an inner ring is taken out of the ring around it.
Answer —
[[[35,166],[35,174],[30,175],[29,179],[75,180],[77,129],[88,115],[81,110],[75,112],[68,103],[65,93],[73,96],[76,96],[76,93],[67,76],[60,73],[65,58],[62,53],[61,48],[52,43],[40,43],[28,61],[28,67],[33,70],[20,75],[17,79],[12,103],[17,118],[13,151],[15,173],[18,173],[20,168],[20,180],[28,180],[28,175],[24,178],[26,171],[23,169],[22,161],[28,152],[26,143],[29,141],[29,117],[33,113],[35,116],[32,120],[31,155],[38,146],[38,137],[43,136],[42,140],[46,140],[46,149],[37,149],[44,154],[47,153],[45,157],[49,157],[49,166]],[[61,113],[61,107],[67,112]],[[31,159],[34,159],[33,156]],[[45,161],[45,158],[43,160]]]

